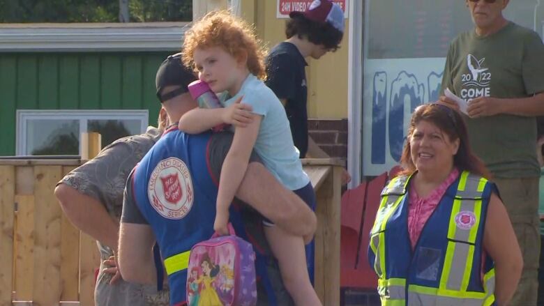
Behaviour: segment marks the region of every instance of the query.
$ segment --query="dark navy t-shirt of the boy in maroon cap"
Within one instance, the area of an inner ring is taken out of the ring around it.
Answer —
[[[275,45],[266,58],[266,86],[285,99],[285,112],[289,119],[294,145],[301,158],[308,151],[308,88],[305,66],[308,66],[299,49],[292,43]]]

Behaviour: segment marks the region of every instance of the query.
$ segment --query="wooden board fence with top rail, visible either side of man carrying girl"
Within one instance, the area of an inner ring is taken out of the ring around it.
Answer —
[[[1,306],[94,305],[96,241],[73,227],[53,194],[56,183],[79,165],[82,160],[0,160]],[[303,165],[317,193],[315,287],[324,305],[336,306],[342,162]]]

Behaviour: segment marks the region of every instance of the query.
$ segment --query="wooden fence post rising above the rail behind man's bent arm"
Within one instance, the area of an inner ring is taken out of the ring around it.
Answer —
[[[96,132],[82,133],[82,160],[90,160],[100,152],[101,138]],[[80,231],[80,302],[94,305],[94,271],[100,266],[96,240]]]

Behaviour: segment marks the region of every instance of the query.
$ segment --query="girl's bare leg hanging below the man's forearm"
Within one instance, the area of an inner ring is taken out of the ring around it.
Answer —
[[[265,226],[264,234],[275,258],[278,259],[283,284],[295,304],[322,305],[308,276],[302,237],[289,234],[276,226]]]

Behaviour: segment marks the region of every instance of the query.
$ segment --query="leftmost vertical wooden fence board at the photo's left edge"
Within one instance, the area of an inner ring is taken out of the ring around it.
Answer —
[[[0,166],[0,305],[11,305],[15,167]]]

